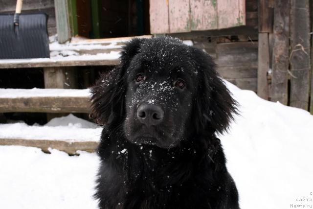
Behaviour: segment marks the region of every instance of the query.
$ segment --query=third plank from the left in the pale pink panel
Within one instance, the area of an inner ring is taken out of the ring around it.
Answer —
[[[191,30],[218,29],[216,0],[191,0]]]

